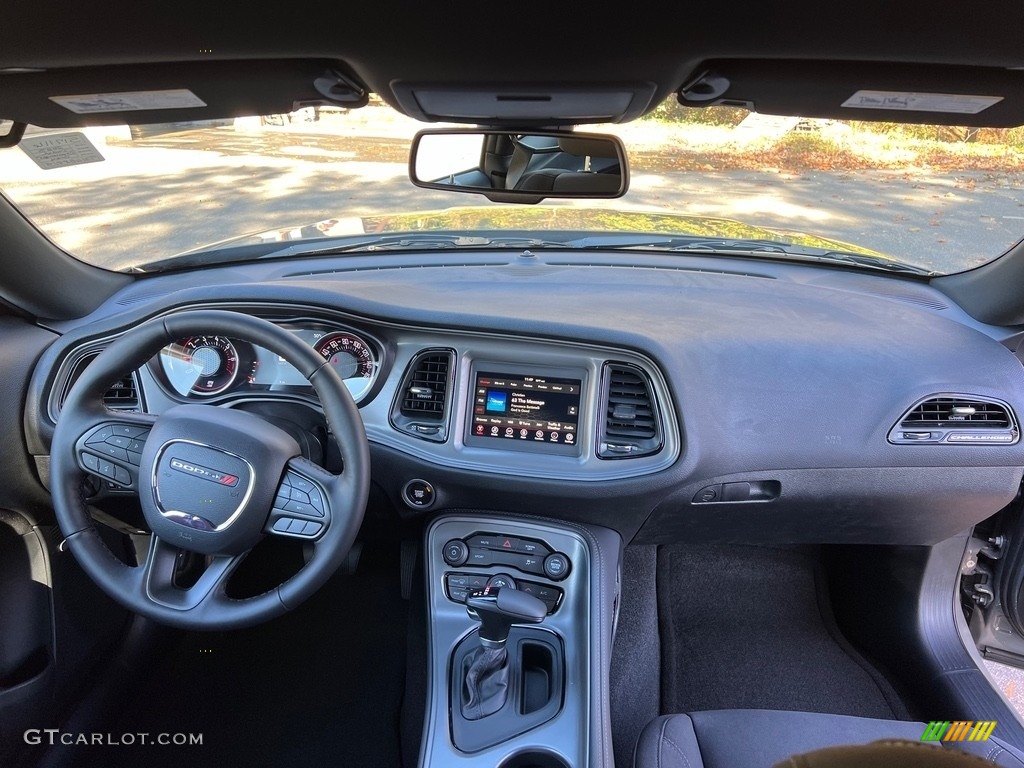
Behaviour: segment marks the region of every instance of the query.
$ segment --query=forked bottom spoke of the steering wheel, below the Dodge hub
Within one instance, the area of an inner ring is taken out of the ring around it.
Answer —
[[[227,604],[227,582],[245,556],[201,558],[153,536],[145,562],[137,568],[140,597],[181,611],[199,612],[207,605]]]

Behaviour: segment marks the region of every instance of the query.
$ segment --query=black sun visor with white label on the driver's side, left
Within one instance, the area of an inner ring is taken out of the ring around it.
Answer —
[[[44,128],[273,115],[313,104],[353,109],[367,96],[345,65],[326,59],[0,71],[0,118]]]

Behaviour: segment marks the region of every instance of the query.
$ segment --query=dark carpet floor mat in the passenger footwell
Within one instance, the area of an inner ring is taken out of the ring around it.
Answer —
[[[768,709],[906,717],[819,602],[812,553],[680,546],[658,552],[666,713]]]

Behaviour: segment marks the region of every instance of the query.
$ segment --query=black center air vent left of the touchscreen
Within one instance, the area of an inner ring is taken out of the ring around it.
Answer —
[[[425,440],[447,439],[455,352],[426,349],[406,369],[401,387],[391,408],[391,426]]]

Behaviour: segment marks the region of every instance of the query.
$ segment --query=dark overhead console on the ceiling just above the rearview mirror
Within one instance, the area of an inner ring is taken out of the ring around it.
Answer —
[[[398,106],[417,120],[520,126],[633,120],[650,105],[654,88],[653,83],[466,87],[391,83]]]

